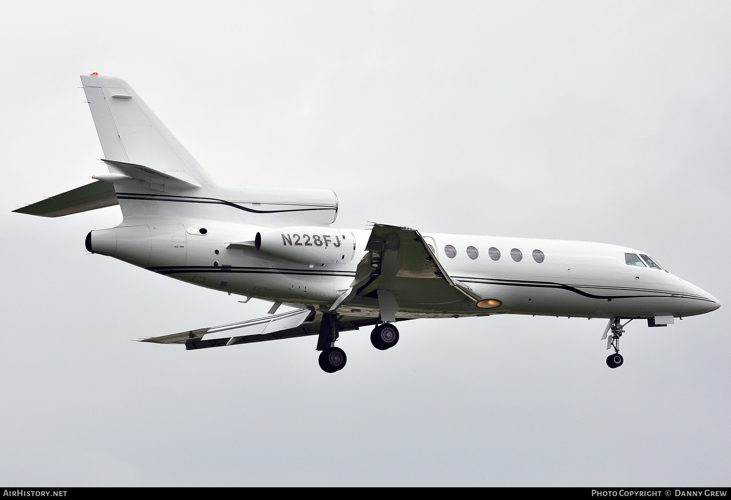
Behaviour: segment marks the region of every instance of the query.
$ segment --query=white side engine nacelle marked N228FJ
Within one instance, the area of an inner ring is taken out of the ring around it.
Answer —
[[[257,232],[257,251],[309,265],[335,265],[355,257],[355,235],[334,227],[279,227]]]

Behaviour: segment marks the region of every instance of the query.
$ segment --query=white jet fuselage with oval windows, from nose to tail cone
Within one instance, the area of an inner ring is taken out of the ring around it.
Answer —
[[[321,235],[283,235],[283,247],[300,243],[304,248],[309,243],[314,249],[318,241],[321,246],[327,240],[333,245],[336,237],[339,244],[337,234],[341,232],[353,235],[354,258],[338,265],[292,262],[257,251],[254,246],[227,248],[232,242],[253,241],[262,229],[222,221],[117,227],[92,232],[93,251],[202,287],[327,308],[352,284],[370,233],[322,227]],[[648,262],[646,252],[624,246],[433,233],[423,233],[423,237],[452,279],[482,298],[499,300],[500,305],[478,308],[466,297],[442,303],[438,297],[430,300],[428,294],[420,295],[420,303],[410,303],[399,300],[400,290],[395,289],[398,318],[486,314],[686,317],[719,306],[708,292],[654,261]],[[363,288],[344,308],[351,316],[377,316],[377,295],[368,295],[367,284]],[[404,293],[404,298],[407,295]]]

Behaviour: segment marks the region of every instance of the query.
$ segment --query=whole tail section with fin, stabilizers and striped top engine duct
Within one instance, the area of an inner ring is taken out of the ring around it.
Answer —
[[[57,217],[119,205],[124,225],[170,218],[266,227],[335,220],[338,199],[330,191],[219,186],[124,80],[82,75],[81,82],[109,173],[16,212]]]

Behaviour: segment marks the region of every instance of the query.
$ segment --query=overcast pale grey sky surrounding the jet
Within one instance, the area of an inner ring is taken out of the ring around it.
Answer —
[[[729,485],[724,1],[14,2],[0,18],[2,485]],[[78,75],[127,80],[221,183],[333,189],[338,227],[618,243],[721,309],[406,322],[186,352],[262,314],[99,255]]]

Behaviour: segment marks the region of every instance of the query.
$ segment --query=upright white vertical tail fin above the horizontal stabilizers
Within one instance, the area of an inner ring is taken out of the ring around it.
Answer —
[[[145,165],[198,186],[215,186],[213,178],[126,81],[81,75],[81,83],[106,160]]]

